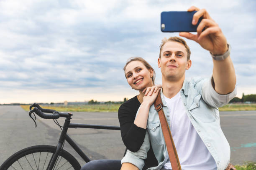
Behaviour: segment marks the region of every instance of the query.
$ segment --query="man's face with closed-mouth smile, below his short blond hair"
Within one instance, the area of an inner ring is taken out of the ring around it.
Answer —
[[[168,41],[164,44],[161,58],[158,59],[158,67],[161,68],[165,79],[181,79],[190,66],[191,60],[187,60],[187,50],[182,43]]]

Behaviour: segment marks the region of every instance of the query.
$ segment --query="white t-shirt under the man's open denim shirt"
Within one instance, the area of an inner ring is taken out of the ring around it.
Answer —
[[[169,107],[170,130],[182,170],[217,170],[215,160],[186,114],[180,92],[171,99],[164,96],[164,100]],[[161,170],[172,170],[169,159]]]

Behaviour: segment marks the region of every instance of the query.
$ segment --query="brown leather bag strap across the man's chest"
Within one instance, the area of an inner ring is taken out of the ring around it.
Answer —
[[[162,109],[163,103],[161,100],[161,92],[159,90],[159,93],[156,97],[156,100],[154,102],[154,106],[156,111],[158,112],[161,128],[164,134],[164,140],[166,143],[166,147],[168,150],[169,159],[172,165],[172,170],[181,170],[180,163],[179,163],[179,157],[177,154],[177,150],[175,148],[173,139],[172,139],[172,133],[169,128],[169,125],[167,123],[166,117],[164,115],[164,110]]]

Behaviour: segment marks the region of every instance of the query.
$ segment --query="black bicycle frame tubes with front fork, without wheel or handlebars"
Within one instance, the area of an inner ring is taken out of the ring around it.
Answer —
[[[107,125],[88,125],[88,124],[77,124],[70,123],[71,116],[67,117],[63,129],[61,131],[61,135],[59,137],[59,143],[56,146],[55,153],[51,156],[50,164],[47,167],[47,170],[52,170],[56,163],[56,160],[61,152],[61,148],[64,144],[64,140],[66,140],[69,145],[81,156],[81,158],[87,163],[90,159],[84,154],[84,152],[79,148],[79,146],[67,135],[68,128],[92,128],[92,129],[107,129],[107,130],[120,130],[119,126],[107,126]]]

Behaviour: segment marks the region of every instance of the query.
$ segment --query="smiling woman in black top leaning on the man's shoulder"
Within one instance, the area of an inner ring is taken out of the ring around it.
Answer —
[[[123,143],[129,150],[136,152],[145,138],[149,107],[156,99],[161,85],[154,86],[154,69],[141,57],[130,58],[123,70],[128,84],[138,90],[139,94],[119,107],[118,119]],[[139,107],[141,109],[136,116]],[[158,165],[152,148],[147,155],[143,170]],[[93,160],[81,170],[120,170],[121,166],[121,160]]]

